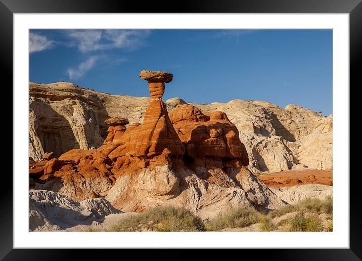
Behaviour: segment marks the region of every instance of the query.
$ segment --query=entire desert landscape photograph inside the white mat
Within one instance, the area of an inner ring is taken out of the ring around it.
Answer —
[[[29,30],[29,231],[332,232],[332,36]]]

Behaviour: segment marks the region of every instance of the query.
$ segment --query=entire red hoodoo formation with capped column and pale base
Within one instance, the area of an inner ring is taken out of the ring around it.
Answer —
[[[241,204],[268,209],[284,204],[247,168],[247,150],[225,113],[184,104],[168,115],[162,95],[172,74],[141,71],[140,77],[151,96],[143,123],[107,119],[108,136],[99,148],[72,149],[33,163],[43,164],[43,173],[32,176],[31,188],[75,201],[105,197],[125,212],[173,204],[203,218]]]

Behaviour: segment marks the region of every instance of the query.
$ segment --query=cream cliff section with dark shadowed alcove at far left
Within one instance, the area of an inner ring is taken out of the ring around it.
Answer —
[[[89,149],[103,144],[98,111],[103,105],[97,95],[82,92],[78,86],[59,82],[50,85],[30,83],[30,156],[40,160],[39,149],[58,157],[70,149]],[[92,106],[93,105],[93,106]],[[104,113],[104,117],[106,114]]]

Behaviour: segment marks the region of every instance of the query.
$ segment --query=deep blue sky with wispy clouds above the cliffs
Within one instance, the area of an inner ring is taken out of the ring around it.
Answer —
[[[164,101],[234,99],[332,113],[332,30],[30,30],[30,81],[149,96],[142,69],[173,73]]]

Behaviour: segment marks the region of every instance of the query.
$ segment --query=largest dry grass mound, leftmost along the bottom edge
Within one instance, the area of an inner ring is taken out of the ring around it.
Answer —
[[[204,231],[202,220],[190,210],[162,206],[150,208],[139,215],[128,216],[108,231]]]

